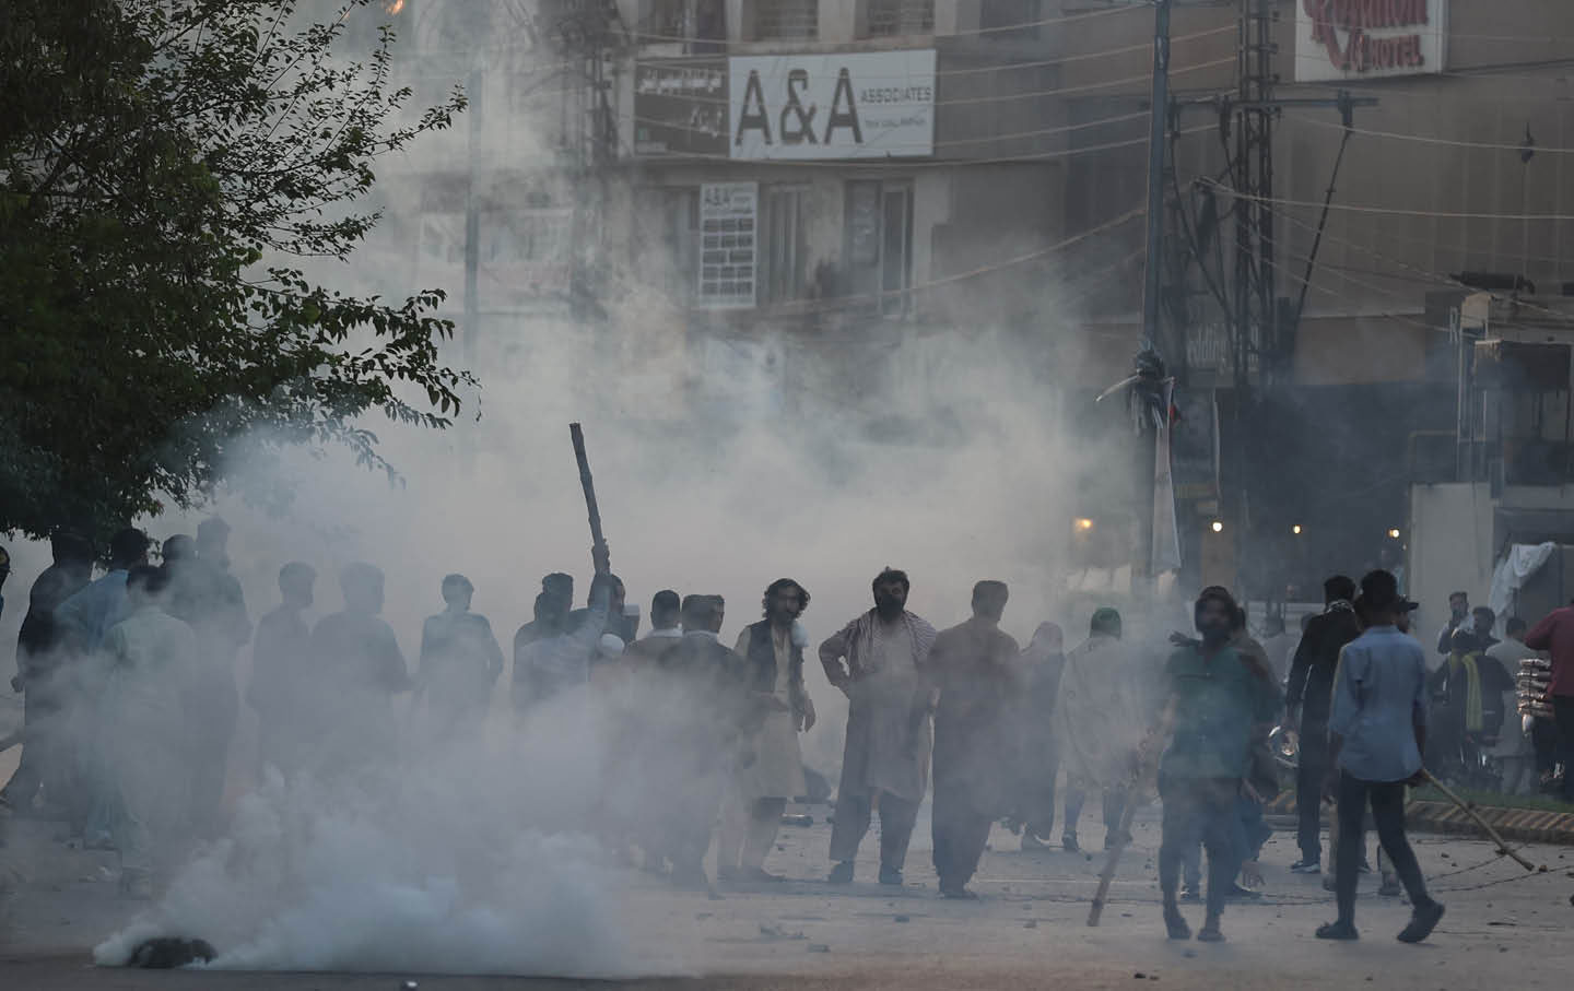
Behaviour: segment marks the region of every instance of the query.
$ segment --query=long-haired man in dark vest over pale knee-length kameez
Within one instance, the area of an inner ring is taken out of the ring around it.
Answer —
[[[745,749],[754,755],[733,774],[732,794],[721,821],[716,876],[722,881],[781,881],[765,870],[776,845],[787,802],[804,794],[803,752],[798,733],[814,727],[814,703],[803,687],[803,648],[798,617],[809,607],[809,591],[793,579],[776,579],[762,599],[765,618],[745,626],[733,653],[748,662],[751,691],[763,719]]]

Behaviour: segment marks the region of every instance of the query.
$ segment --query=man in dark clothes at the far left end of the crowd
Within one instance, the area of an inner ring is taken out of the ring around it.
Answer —
[[[27,596],[27,615],[16,635],[16,678],[11,689],[24,692],[22,760],[16,774],[0,791],[0,805],[27,812],[33,807],[39,787],[54,804],[65,798],[69,769],[63,750],[60,725],[65,686],[57,676],[65,662],[65,645],[55,610],[87,587],[93,574],[93,547],[76,533],[50,538],[54,563],[33,582]],[[54,794],[50,794],[54,791]]]

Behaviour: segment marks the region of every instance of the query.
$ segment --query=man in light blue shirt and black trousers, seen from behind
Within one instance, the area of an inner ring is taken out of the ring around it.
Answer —
[[[1377,838],[1410,895],[1410,925],[1402,942],[1421,942],[1443,917],[1443,906],[1426,893],[1415,851],[1404,837],[1404,787],[1426,772],[1426,653],[1395,628],[1404,607],[1399,584],[1388,571],[1362,579],[1366,632],[1344,647],[1333,680],[1328,742],[1333,757],[1327,791],[1338,798],[1339,843],[1335,853],[1335,890],[1339,917],[1317,930],[1317,939],[1357,939],[1355,882],[1365,837],[1362,820],[1371,802]]]

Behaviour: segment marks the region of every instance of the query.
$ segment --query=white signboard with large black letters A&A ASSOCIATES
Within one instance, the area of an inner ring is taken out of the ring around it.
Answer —
[[[935,153],[935,50],[727,60],[733,159]]]

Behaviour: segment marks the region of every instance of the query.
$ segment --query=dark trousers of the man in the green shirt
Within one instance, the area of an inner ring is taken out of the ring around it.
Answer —
[[[1166,906],[1176,903],[1180,865],[1187,851],[1201,842],[1207,849],[1207,914],[1217,917],[1225,912],[1225,895],[1236,882],[1239,867],[1236,854],[1239,790],[1240,780],[1234,777],[1158,782],[1158,796],[1165,804],[1163,842],[1158,846],[1158,890]]]

